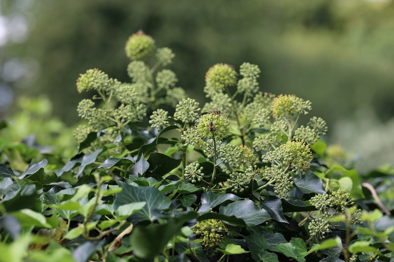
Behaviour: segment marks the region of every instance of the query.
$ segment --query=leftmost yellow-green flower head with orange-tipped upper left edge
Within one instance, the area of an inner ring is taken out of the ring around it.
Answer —
[[[114,80],[101,70],[89,69],[80,74],[77,79],[77,90],[79,93],[89,90],[108,91],[113,88]]]

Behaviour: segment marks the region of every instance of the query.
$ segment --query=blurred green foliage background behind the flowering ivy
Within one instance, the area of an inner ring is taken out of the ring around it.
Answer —
[[[261,90],[310,100],[328,139],[354,151],[360,168],[393,163],[393,1],[2,0],[0,8],[27,28],[18,37],[14,22],[1,46],[0,85],[14,101],[46,95],[68,125],[84,98],[79,74],[97,67],[129,81],[124,44],[142,29],[173,50],[171,69],[197,101],[210,66],[257,64]]]

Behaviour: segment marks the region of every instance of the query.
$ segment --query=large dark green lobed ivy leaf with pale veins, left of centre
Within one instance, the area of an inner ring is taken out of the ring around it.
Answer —
[[[116,183],[123,188],[123,190],[115,195],[113,203],[115,209],[121,205],[146,202],[146,205],[132,215],[132,220],[139,221],[154,221],[160,215],[160,210],[165,210],[170,207],[171,201],[163,194],[152,187],[133,187],[124,182],[116,181]]]

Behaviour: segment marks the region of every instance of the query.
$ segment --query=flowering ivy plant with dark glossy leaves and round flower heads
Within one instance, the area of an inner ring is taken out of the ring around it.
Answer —
[[[125,51],[130,83],[78,78],[92,98],[71,159],[21,172],[0,145],[0,261],[393,261],[394,227],[375,224],[390,211],[327,165],[310,101],[260,91],[257,65],[216,64],[200,105],[169,48],[139,31]]]

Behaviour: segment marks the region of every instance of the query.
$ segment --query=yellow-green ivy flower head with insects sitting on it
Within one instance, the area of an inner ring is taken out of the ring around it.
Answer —
[[[217,140],[223,140],[231,133],[230,122],[223,115],[205,114],[202,115],[196,122],[197,133],[201,138],[212,138],[212,135]]]

